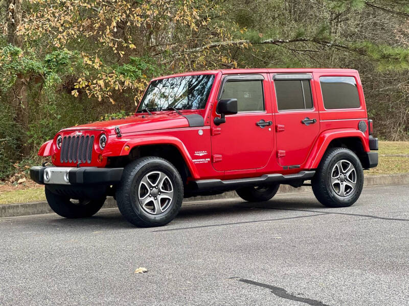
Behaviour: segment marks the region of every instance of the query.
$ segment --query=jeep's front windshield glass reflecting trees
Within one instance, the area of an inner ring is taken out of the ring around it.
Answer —
[[[214,74],[188,75],[150,83],[139,111],[204,109],[214,81]]]

